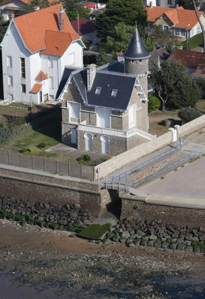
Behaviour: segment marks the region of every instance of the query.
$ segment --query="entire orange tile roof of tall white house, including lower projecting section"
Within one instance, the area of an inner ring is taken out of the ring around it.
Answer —
[[[73,40],[79,39],[65,12],[64,31],[59,32],[58,15],[61,6],[56,4],[13,18],[30,52],[42,51],[43,54],[61,56]]]

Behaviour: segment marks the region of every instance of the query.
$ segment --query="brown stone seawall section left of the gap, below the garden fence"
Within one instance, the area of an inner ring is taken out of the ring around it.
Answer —
[[[31,203],[79,203],[83,211],[88,211],[93,216],[104,211],[109,201],[108,191],[100,191],[97,183],[17,168],[19,167],[0,168],[0,196],[12,196]]]

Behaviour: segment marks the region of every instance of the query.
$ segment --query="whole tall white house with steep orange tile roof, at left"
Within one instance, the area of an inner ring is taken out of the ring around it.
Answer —
[[[0,47],[3,103],[54,99],[65,66],[83,66],[85,46],[61,4],[12,18]]]

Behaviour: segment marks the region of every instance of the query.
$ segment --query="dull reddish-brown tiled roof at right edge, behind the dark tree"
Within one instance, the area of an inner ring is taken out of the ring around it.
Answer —
[[[175,50],[170,54],[169,59],[176,58],[185,66],[197,68],[201,63],[205,63],[205,53],[186,50]]]

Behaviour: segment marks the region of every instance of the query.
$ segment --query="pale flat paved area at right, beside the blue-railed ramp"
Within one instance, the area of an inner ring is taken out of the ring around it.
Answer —
[[[205,205],[205,156],[137,190],[148,199]]]

